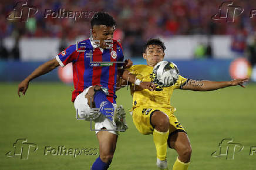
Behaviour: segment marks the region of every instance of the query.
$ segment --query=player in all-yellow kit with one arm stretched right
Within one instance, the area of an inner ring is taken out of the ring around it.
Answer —
[[[133,65],[124,71],[123,79],[130,79],[135,84],[130,85],[133,96],[133,122],[140,133],[153,134],[157,152],[157,166],[160,169],[167,169],[166,152],[168,145],[178,153],[173,170],[185,170],[190,164],[192,149],[186,131],[173,114],[176,108],[170,105],[173,90],[210,91],[237,85],[244,87],[243,83],[248,79],[196,81],[179,76],[173,86],[160,87],[152,84],[152,89],[142,89],[140,84],[151,81],[153,68],[164,59],[165,49],[166,47],[161,40],[150,39],[146,43],[143,53],[147,65]]]

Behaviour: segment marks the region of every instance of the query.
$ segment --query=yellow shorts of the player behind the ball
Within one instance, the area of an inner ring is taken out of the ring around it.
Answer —
[[[173,115],[174,108],[159,108],[159,107],[136,107],[133,109],[133,123],[135,124],[137,130],[144,134],[153,134],[154,127],[150,122],[151,115],[154,111],[160,110],[167,114],[170,119],[169,133],[176,131],[184,131],[182,125],[178,122],[175,115]]]

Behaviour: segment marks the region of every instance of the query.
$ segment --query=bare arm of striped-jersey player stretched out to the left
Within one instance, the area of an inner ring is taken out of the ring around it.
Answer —
[[[32,79],[35,79],[38,76],[41,76],[43,74],[46,74],[46,73],[52,71],[53,69],[55,69],[58,66],[59,66],[59,62],[56,59],[52,59],[48,62],[43,63],[41,66],[37,67],[28,77],[26,77],[26,79],[24,79],[23,81],[21,81],[21,83],[19,83],[18,96],[21,97],[21,95],[19,94],[20,92],[23,95],[26,94],[26,90],[28,89],[29,81],[31,81]]]

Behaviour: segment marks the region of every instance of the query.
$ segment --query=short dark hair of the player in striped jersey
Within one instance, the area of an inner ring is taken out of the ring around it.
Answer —
[[[113,17],[107,12],[97,12],[95,15],[93,15],[90,25],[92,27],[94,25],[115,26],[116,21],[114,21]]]

